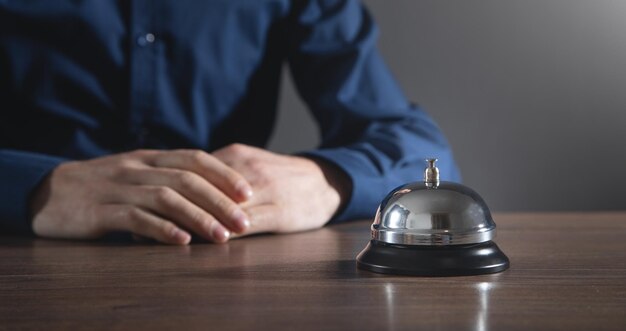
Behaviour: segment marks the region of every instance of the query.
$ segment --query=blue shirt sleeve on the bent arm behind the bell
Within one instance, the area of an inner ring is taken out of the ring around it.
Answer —
[[[421,180],[424,159],[439,159],[442,180],[459,181],[452,151],[435,122],[410,103],[376,49],[378,35],[357,0],[301,3],[288,61],[322,141],[320,157],[352,181],[348,202],[332,220],[371,218],[393,188]]]

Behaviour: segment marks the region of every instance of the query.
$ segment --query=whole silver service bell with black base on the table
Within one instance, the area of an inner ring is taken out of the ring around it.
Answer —
[[[441,182],[437,159],[426,161],[424,181],[395,189],[380,204],[357,266],[423,276],[506,270],[509,260],[491,241],[496,225],[483,199],[467,186]]]

